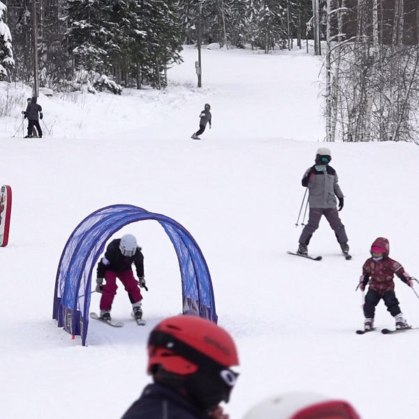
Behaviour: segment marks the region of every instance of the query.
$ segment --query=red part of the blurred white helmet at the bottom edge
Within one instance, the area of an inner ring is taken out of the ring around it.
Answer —
[[[351,404],[342,400],[330,400],[302,409],[290,419],[360,419],[360,416]]]

